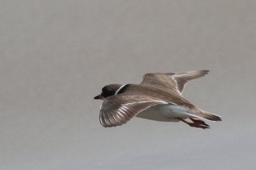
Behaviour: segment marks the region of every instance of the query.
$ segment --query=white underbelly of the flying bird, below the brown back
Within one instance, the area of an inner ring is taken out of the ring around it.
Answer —
[[[190,114],[189,114],[190,113]],[[155,121],[180,121],[177,118],[185,120],[191,118],[191,111],[186,107],[173,104],[155,105],[147,110],[137,114],[138,118]]]

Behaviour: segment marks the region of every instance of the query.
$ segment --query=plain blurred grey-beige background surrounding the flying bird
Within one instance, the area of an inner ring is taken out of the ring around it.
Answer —
[[[255,1],[1,1],[0,169],[255,169]],[[99,123],[112,83],[209,69],[209,130]]]

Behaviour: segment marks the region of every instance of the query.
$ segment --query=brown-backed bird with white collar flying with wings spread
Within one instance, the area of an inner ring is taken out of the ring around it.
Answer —
[[[146,73],[140,84],[109,84],[94,99],[100,106],[103,127],[116,127],[134,116],[154,121],[182,121],[190,127],[209,128],[204,120],[221,121],[221,117],[203,111],[182,97],[184,86],[209,70],[182,73]],[[189,121],[187,121],[189,120]]]

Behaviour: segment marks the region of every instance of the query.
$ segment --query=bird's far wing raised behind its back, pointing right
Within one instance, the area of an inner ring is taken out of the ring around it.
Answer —
[[[180,95],[184,86],[193,79],[198,79],[209,73],[209,70],[182,72],[182,73],[146,73],[140,84],[159,86],[176,90]]]

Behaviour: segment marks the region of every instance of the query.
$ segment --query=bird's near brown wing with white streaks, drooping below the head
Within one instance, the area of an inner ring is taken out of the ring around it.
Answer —
[[[136,114],[158,104],[168,104],[147,95],[124,93],[108,97],[100,107],[100,123],[103,127],[120,126]]]

